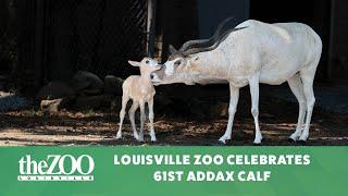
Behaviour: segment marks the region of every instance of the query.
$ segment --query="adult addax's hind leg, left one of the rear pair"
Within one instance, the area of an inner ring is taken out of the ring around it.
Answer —
[[[297,121],[297,126],[296,131],[290,135],[290,139],[293,140],[298,140],[301,133],[302,133],[302,124],[304,121],[304,115],[306,115],[306,98],[304,98],[304,93],[303,93],[303,85],[301,82],[301,78],[299,74],[294,75],[291,78],[287,81],[289,84],[289,87],[295,95],[298,105],[299,105],[299,112],[298,112],[298,121]]]

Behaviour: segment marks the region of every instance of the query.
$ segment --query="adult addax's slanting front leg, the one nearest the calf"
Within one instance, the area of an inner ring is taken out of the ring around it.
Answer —
[[[233,84],[229,84],[229,108],[228,108],[228,124],[225,134],[219,139],[223,144],[226,143],[227,139],[231,139],[233,121],[235,118],[235,113],[237,111],[238,98],[239,98],[239,88],[235,87]]]

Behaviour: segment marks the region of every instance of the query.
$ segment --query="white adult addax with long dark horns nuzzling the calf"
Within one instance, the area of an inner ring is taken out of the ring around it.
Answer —
[[[261,144],[259,84],[279,85],[287,82],[299,102],[297,127],[289,138],[306,142],[315,102],[313,81],[322,52],[318,34],[301,23],[266,24],[253,20],[217,34],[217,39],[214,36],[188,41],[179,50],[171,47],[172,54],[154,73],[157,85],[229,83],[228,124],[219,139],[224,144],[231,139],[239,88],[249,85],[256,126],[253,143]]]

